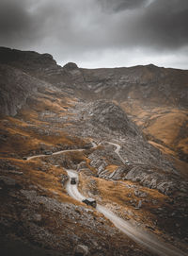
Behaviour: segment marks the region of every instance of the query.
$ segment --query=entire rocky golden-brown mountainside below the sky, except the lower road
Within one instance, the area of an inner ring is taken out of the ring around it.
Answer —
[[[152,255],[68,196],[66,169],[83,195],[187,251],[187,71],[60,67],[1,47],[0,77],[2,255]]]

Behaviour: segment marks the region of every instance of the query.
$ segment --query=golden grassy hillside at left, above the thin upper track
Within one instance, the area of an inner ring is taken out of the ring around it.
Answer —
[[[86,144],[86,141],[62,131],[62,124],[39,119],[40,113],[42,111],[45,113],[45,110],[52,114],[55,113],[57,119],[59,116],[66,115],[69,117],[68,109],[75,104],[75,99],[53,93],[53,91],[47,90],[43,97],[31,100],[29,105],[26,105],[19,112],[18,116],[4,117],[6,121],[3,119],[0,122],[0,129],[4,131],[7,139],[3,140],[0,146],[2,156],[15,154],[23,157],[30,153],[36,154],[36,152],[39,153],[41,145],[50,149],[58,145],[83,147]]]

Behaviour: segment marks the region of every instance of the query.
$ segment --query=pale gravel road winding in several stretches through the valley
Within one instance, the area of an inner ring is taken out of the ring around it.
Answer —
[[[115,145],[117,148],[115,149],[115,152],[118,154],[119,159],[121,162],[125,162],[122,157],[119,155],[120,145],[115,143],[107,142],[110,145]],[[93,148],[97,147],[95,143],[92,143]],[[70,149],[70,150],[62,150],[53,153],[52,155],[58,155],[66,152],[72,152],[72,151],[84,151],[85,149]],[[50,157],[52,155],[37,155],[28,157],[26,160],[33,160],[40,157]],[[75,200],[82,201],[86,197],[83,196],[78,191],[78,173],[74,170],[68,170],[66,169],[69,180],[66,185],[67,192],[69,196],[74,198]],[[77,179],[76,184],[71,184],[71,178]],[[186,256],[187,254],[183,253],[176,247],[172,247],[168,244],[165,244],[164,242],[157,239],[157,237],[153,234],[147,233],[144,230],[139,230],[138,228],[133,227],[128,221],[125,221],[124,219],[118,217],[117,214],[113,213],[112,211],[108,210],[107,208],[103,207],[102,205],[98,204],[96,210],[100,213],[102,213],[106,218],[108,218],[117,228],[118,230],[121,230],[123,233],[125,233],[127,236],[129,236],[131,239],[133,239],[134,242],[146,247],[149,249],[149,251],[152,251],[156,255],[159,256]]]

